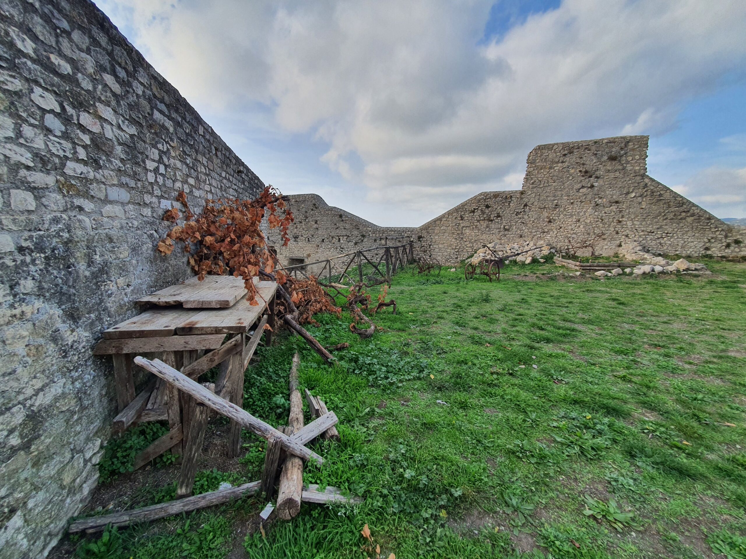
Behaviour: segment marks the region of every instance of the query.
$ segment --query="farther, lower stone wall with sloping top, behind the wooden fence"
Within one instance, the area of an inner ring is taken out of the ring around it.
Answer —
[[[403,244],[412,239],[414,227],[379,227],[344,209],[329,206],[319,195],[290,195],[289,206],[295,222],[288,230],[290,242],[282,247],[278,234],[269,239],[283,265],[290,259],[315,262],[361,248]],[[317,273],[321,266],[310,267]]]

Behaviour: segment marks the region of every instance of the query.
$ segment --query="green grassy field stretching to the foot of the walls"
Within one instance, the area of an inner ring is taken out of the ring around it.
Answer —
[[[263,503],[245,499],[74,544],[92,558],[746,558],[746,265],[706,264],[604,281],[540,264],[495,283],[405,271],[374,338],[346,315],[310,328],[350,342],[338,366],[286,337],[246,375],[245,408],[286,423],[300,351],[301,385],[342,435],[314,446],[326,464],[304,481],[363,505],[304,505],[263,534]],[[239,471],[201,472],[197,490],[259,478],[263,442],[244,440]],[[171,468],[141,505],[172,496]]]

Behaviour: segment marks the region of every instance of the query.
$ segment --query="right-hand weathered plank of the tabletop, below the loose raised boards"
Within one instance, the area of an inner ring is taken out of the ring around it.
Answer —
[[[259,282],[257,305],[242,299],[230,309],[210,309],[198,312],[182,322],[176,332],[186,334],[228,334],[246,332],[266,309],[267,301],[275,295],[275,282]]]

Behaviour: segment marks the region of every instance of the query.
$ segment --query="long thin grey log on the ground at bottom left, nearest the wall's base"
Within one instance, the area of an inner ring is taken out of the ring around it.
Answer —
[[[179,499],[178,501],[137,508],[134,511],[122,511],[113,514],[104,514],[101,517],[82,518],[72,522],[69,531],[72,534],[81,531],[101,531],[109,524],[114,526],[128,526],[136,522],[150,522],[160,518],[171,517],[174,514],[196,511],[199,508],[222,505],[232,499],[254,495],[259,489],[259,483],[259,481],[251,481],[251,483],[239,485],[238,487],[210,491],[210,493],[202,493],[201,495],[186,497],[186,499]]]

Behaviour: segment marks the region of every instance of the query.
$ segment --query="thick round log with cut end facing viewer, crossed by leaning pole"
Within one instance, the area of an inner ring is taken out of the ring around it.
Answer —
[[[303,427],[303,400],[298,391],[298,366],[301,358],[298,353],[292,356],[290,369],[290,417],[288,427],[291,433]],[[301,511],[301,494],[303,493],[303,461],[297,456],[288,455],[285,458],[282,473],[280,473],[280,487],[278,490],[278,504],[275,511],[278,517],[289,520],[298,516]]]

